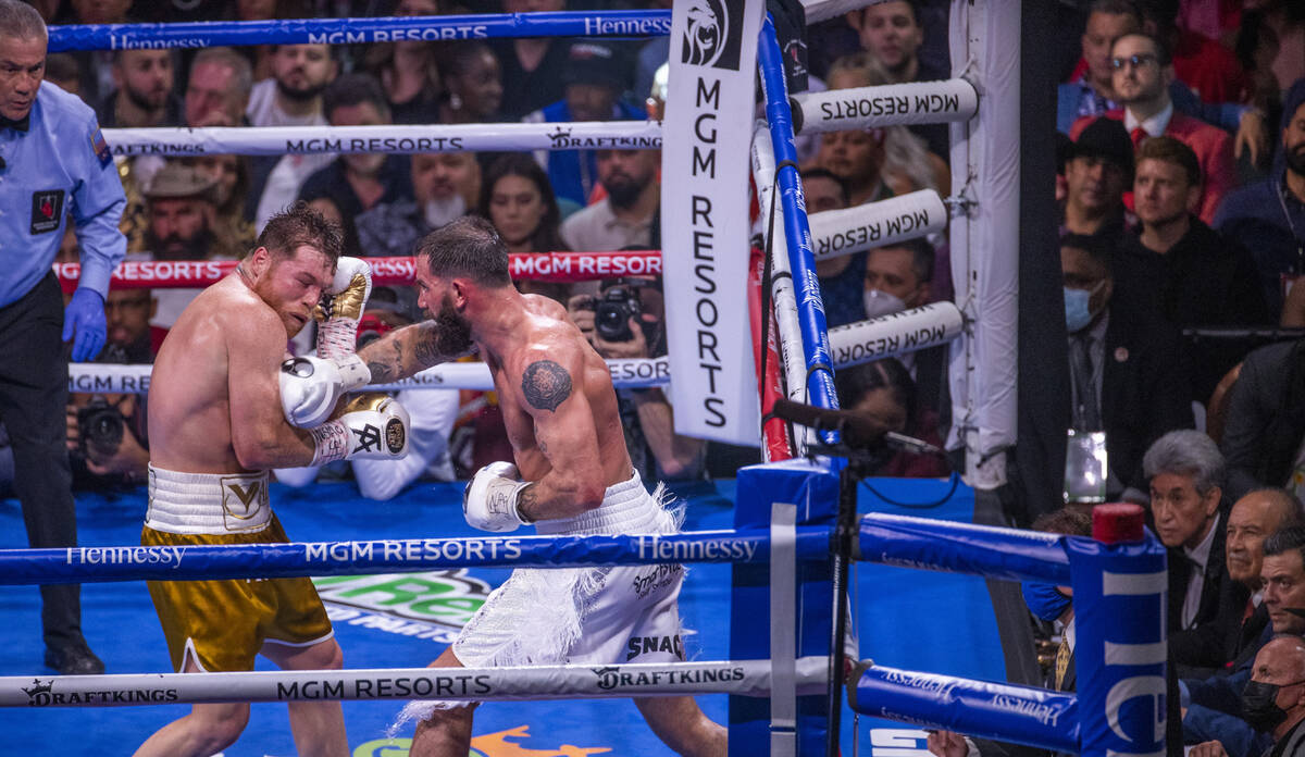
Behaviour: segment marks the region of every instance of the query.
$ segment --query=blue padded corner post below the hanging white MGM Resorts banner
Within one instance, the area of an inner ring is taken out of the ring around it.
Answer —
[[[770,529],[775,502],[796,506],[796,523],[833,526],[838,508],[838,472],[806,459],[749,466],[739,471],[735,527]],[[786,612],[797,624],[797,657],[831,654],[830,564],[803,561],[799,555],[796,596]],[[758,623],[779,608],[770,603],[770,566],[735,565],[729,607],[731,659],[771,658],[767,634]],[[797,697],[797,756],[823,757],[829,732],[823,694]],[[756,757],[770,753],[770,702],[729,697],[729,756]]]

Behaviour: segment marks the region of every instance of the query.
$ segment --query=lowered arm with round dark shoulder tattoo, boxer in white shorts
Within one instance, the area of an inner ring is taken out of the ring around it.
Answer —
[[[599,506],[607,483],[585,395],[583,355],[578,347],[539,350],[522,364],[521,403],[535,422],[535,442],[551,467],[521,491],[517,512],[538,521],[570,518]]]

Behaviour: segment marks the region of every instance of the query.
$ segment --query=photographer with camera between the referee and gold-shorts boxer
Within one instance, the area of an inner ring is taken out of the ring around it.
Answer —
[[[104,299],[107,343],[97,363],[153,363],[167,330],[150,326],[157,301],[147,288],[115,290]],[[144,394],[72,394],[68,454],[76,488],[145,480],[150,444]]]

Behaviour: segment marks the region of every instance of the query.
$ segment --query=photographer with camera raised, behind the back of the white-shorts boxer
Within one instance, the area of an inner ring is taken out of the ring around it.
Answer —
[[[572,296],[568,311],[606,360],[666,355],[660,277],[604,281],[598,296]],[[660,389],[619,389],[616,398],[625,446],[643,480],[702,478],[706,444],[675,433],[671,403]]]

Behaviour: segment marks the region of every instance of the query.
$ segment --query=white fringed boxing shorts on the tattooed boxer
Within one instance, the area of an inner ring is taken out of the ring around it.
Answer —
[[[650,495],[634,472],[608,487],[596,509],[535,527],[545,536],[675,534],[683,510],[667,509],[663,499],[663,487]],[[465,667],[680,660],[683,579],[675,564],[518,568],[462,628],[453,654]],[[395,727],[470,703],[412,702]]]

